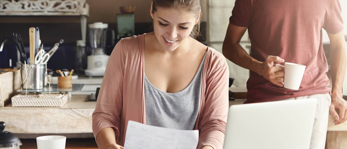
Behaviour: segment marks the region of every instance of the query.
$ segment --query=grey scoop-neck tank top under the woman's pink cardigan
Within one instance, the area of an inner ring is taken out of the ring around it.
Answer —
[[[145,77],[146,123],[165,128],[193,130],[199,112],[202,68],[205,56],[193,80],[182,91],[167,93],[157,89]]]

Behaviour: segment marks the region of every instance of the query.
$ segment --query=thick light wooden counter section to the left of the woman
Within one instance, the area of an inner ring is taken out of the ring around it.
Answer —
[[[35,138],[41,134],[67,134],[71,138],[88,138],[92,135],[92,113],[95,102],[89,95],[72,95],[63,107],[12,107],[0,108],[1,121],[6,131],[20,138]]]

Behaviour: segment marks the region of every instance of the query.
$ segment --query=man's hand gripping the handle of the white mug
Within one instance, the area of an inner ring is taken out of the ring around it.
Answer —
[[[265,62],[262,63],[258,74],[269,80],[271,83],[277,86],[283,86],[284,71],[281,66],[274,65],[276,63],[283,63],[284,59],[278,56],[268,56]]]

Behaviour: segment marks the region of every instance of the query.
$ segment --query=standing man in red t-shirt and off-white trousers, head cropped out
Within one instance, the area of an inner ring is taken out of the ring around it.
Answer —
[[[346,49],[339,0],[236,0],[229,21],[223,54],[250,70],[245,103],[317,98],[310,149],[324,149],[329,106],[335,124],[347,119],[347,102],[342,99]],[[330,39],[332,90],[322,28]],[[239,44],[246,29],[251,56]],[[275,64],[284,62],[306,65],[299,90],[283,88],[284,70]]]

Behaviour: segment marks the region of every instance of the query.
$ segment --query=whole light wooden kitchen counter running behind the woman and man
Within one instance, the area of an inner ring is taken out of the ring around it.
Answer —
[[[232,95],[244,96],[246,89],[231,87]],[[96,102],[88,101],[89,95],[72,95],[63,107],[12,107],[9,103],[0,108],[1,121],[6,131],[19,138],[36,138],[48,134],[60,134],[68,138],[93,138],[92,113]],[[243,104],[246,99],[229,101],[229,106]],[[347,122],[335,125],[329,115],[327,148],[347,147]],[[338,146],[338,147],[337,147]]]

